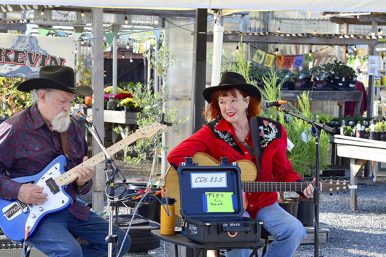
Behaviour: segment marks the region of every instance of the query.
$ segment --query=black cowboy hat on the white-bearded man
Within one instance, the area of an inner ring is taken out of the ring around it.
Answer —
[[[62,65],[47,65],[40,69],[39,77],[29,79],[17,86],[17,90],[30,92],[32,89],[52,88],[80,96],[92,96],[93,89],[89,86],[75,87],[74,70]]]

